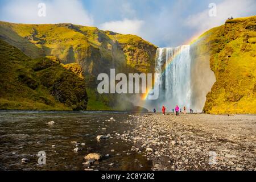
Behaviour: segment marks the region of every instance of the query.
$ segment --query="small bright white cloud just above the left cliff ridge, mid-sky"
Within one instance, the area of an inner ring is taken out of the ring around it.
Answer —
[[[105,22],[101,24],[100,28],[102,30],[110,30],[120,34],[141,35],[143,23],[143,20],[125,18],[120,21]]]

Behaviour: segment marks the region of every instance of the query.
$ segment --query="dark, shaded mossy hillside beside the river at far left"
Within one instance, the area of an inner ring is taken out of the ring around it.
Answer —
[[[0,57],[0,109],[86,109],[88,97],[79,65],[64,66],[52,57],[32,60],[1,39]]]

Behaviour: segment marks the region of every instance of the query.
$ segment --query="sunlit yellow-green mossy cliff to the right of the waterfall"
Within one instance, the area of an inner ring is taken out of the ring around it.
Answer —
[[[207,113],[256,113],[256,16],[227,20],[202,35],[197,56],[207,56],[216,82],[207,94]]]

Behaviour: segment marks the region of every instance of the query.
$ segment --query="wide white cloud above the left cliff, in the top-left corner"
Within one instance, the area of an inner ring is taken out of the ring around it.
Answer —
[[[46,4],[46,17],[38,16],[39,3]],[[14,23],[73,23],[93,25],[93,18],[79,0],[12,1],[2,7],[5,20]]]

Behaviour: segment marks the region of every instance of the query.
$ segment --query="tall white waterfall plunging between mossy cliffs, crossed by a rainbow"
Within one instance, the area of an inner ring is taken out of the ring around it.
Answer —
[[[191,109],[191,56],[190,46],[158,48],[156,53],[155,85],[159,84],[159,99],[155,103],[172,110],[176,105]],[[157,82],[157,83],[156,83]]]

